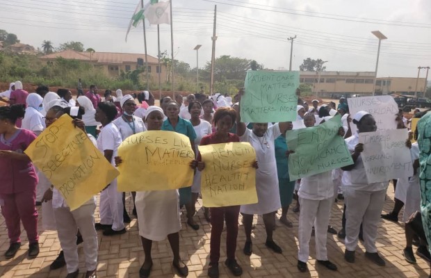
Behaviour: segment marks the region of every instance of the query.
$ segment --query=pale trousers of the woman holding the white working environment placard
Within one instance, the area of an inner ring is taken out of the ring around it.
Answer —
[[[386,189],[378,191],[355,190],[345,186],[345,249],[355,251],[358,243],[359,227],[362,223],[362,234],[366,252],[375,253],[377,225],[384,205]]]

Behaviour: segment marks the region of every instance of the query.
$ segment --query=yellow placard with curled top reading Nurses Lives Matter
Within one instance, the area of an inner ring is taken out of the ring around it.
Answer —
[[[168,190],[191,186],[195,153],[190,139],[172,131],[144,131],[118,148],[119,191]]]

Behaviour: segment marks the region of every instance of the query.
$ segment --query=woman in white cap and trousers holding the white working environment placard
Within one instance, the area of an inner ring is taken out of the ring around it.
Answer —
[[[357,133],[345,139],[354,164],[342,167],[342,184],[345,198],[345,253],[344,259],[348,263],[355,263],[355,250],[358,243],[359,227],[363,227],[365,256],[377,265],[384,266],[386,262],[377,253],[375,240],[377,238],[377,225],[380,222],[380,213],[384,205],[384,197],[389,186],[388,182],[368,183],[361,152],[364,145],[359,143],[358,133],[373,132],[377,130],[374,117],[366,112],[359,111],[352,122],[357,125]]]

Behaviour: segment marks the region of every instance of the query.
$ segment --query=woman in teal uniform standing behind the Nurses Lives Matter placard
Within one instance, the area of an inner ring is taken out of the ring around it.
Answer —
[[[195,152],[195,129],[193,129],[192,124],[188,120],[184,120],[183,118],[179,117],[179,105],[177,102],[170,101],[168,104],[166,104],[165,111],[168,119],[163,122],[161,129],[164,131],[175,131],[187,136],[190,139],[190,145],[192,146],[193,152]],[[180,188],[179,205],[186,206],[187,224],[188,226],[192,227],[192,229],[198,230],[199,224],[193,220],[193,215],[196,213],[195,204],[196,202],[193,202],[192,198],[191,184],[186,188]]]

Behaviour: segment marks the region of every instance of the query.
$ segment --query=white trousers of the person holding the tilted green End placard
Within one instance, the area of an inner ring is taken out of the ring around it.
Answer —
[[[311,200],[300,197],[301,211],[298,227],[300,242],[298,260],[307,263],[310,252],[311,230],[314,224],[316,240],[316,259],[327,261],[326,239],[327,224],[330,221],[330,211],[333,198],[323,200]]]

